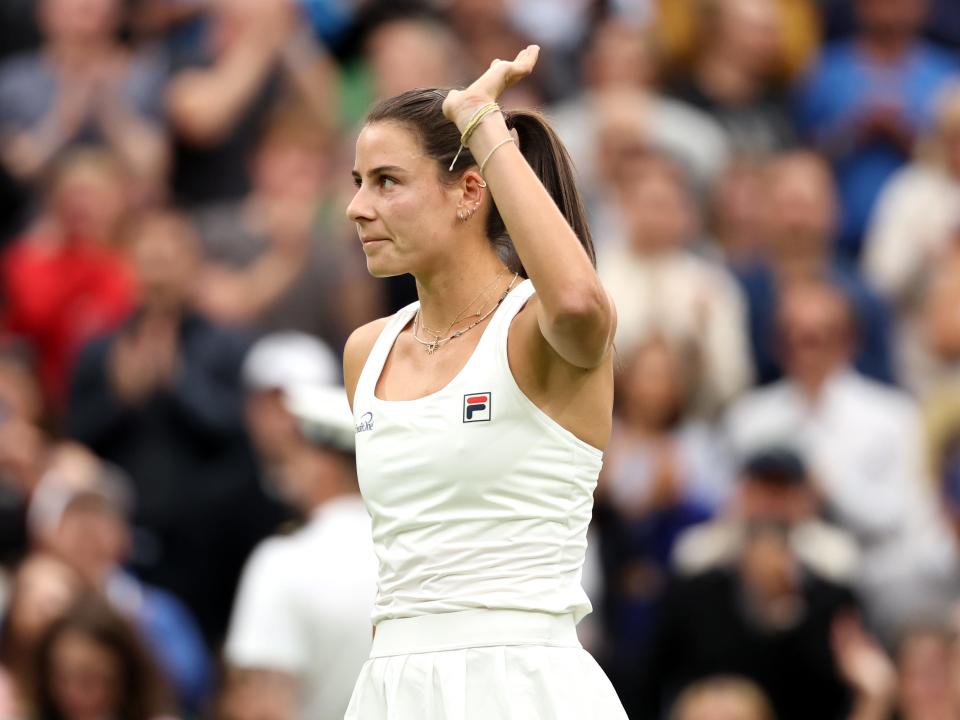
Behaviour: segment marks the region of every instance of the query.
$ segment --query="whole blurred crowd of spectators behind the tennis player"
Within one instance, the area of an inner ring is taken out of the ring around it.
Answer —
[[[3,0],[0,718],[342,717],[378,98],[543,48],[616,302],[642,720],[960,717],[958,0]]]

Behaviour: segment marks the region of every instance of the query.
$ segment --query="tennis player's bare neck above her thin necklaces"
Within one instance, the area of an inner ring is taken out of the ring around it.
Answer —
[[[486,243],[486,241],[484,241]],[[444,330],[461,320],[476,320],[474,313],[484,313],[500,299],[513,273],[506,269],[496,251],[487,244],[472,255],[460,255],[441,269],[418,273],[417,295],[424,327]]]

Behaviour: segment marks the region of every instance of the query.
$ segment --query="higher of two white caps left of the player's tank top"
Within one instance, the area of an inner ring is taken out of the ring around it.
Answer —
[[[253,344],[243,361],[243,383],[248,390],[284,390],[339,382],[337,356],[322,340],[306,333],[265,335]]]

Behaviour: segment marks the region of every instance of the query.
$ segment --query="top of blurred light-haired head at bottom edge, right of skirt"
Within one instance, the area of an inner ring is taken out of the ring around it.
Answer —
[[[749,680],[717,677],[694,683],[677,699],[671,720],[774,720],[763,691]]]

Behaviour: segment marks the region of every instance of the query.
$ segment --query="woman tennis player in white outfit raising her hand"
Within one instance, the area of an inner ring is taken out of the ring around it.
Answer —
[[[386,100],[357,140],[367,267],[419,302],[344,350],[380,564],[349,720],[626,718],[575,630],[614,308],[566,151],[495,102],[538,52]]]

